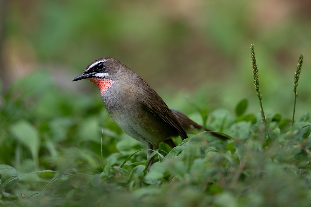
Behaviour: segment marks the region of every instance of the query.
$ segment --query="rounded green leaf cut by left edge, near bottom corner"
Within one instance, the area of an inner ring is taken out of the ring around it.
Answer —
[[[13,187],[15,187],[19,180],[19,178],[17,177],[19,177],[19,173],[16,172],[15,168],[11,167],[10,165],[0,164],[0,178],[2,179],[0,180],[0,190],[2,187],[4,189],[12,189]],[[12,180],[14,178],[17,179]]]

